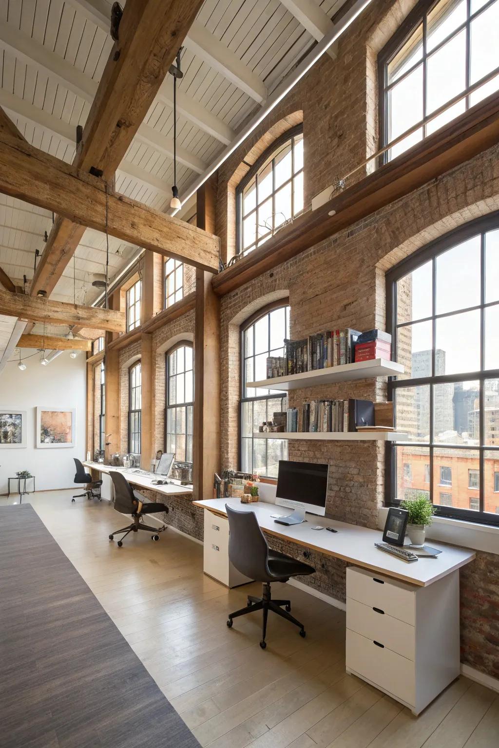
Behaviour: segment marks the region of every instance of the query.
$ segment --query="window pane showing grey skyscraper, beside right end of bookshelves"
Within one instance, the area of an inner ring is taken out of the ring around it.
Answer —
[[[433,386],[434,441],[441,444],[479,444],[480,383],[446,382]],[[476,416],[476,423],[475,423]]]

